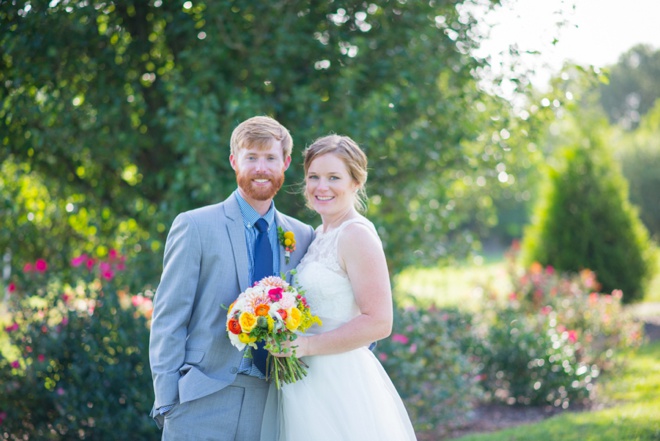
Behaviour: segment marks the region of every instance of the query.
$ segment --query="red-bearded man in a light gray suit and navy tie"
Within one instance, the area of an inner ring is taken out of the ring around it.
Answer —
[[[261,277],[264,261],[271,274],[286,273],[313,238],[273,203],[291,163],[288,130],[257,116],[234,129],[230,144],[238,189],[179,214],[165,245],[149,341],[151,416],[163,440],[259,439],[268,383],[257,355],[253,363],[231,345],[226,308]],[[295,236],[286,258],[278,227]]]

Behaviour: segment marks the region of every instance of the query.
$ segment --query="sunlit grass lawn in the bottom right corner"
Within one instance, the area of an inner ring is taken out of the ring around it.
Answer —
[[[468,435],[455,441],[653,441],[660,440],[660,341],[622,354],[621,373],[602,377],[600,410],[567,412],[536,424]]]

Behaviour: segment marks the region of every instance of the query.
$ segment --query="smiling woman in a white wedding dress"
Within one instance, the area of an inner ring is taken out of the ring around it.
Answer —
[[[378,233],[358,213],[367,158],[352,139],[330,135],[305,150],[304,170],[305,198],[323,224],[298,266],[298,283],[323,326],[292,343],[309,369],[279,391],[279,440],[415,440],[401,398],[369,350],[391,333],[392,293]]]

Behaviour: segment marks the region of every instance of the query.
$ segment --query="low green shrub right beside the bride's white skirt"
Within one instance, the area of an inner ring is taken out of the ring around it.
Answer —
[[[472,317],[425,307],[414,299],[397,308],[393,335],[377,353],[417,430],[456,427],[482,396]]]

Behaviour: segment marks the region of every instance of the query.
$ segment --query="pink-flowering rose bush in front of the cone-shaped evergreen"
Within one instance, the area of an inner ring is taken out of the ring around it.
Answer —
[[[512,279],[507,301],[490,296],[481,319],[484,386],[498,401],[562,408],[585,402],[601,371],[614,367],[614,355],[642,342],[621,292],[597,294],[591,271],[565,276],[535,264]]]

